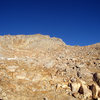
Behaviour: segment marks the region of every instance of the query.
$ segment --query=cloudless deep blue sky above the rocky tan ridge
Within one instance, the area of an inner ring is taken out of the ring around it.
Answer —
[[[68,45],[100,42],[100,0],[0,0],[0,35],[36,33]]]

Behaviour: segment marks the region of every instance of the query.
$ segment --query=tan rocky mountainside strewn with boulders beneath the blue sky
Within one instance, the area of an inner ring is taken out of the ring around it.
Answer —
[[[100,43],[0,36],[0,100],[100,100]]]

